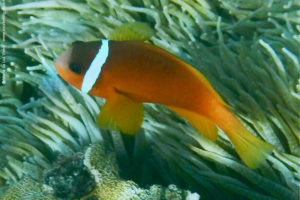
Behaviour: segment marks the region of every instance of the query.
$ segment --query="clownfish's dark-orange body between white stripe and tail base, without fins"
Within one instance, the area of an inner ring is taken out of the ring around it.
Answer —
[[[222,103],[196,69],[153,45],[110,41],[109,55],[92,95],[109,98],[110,92],[119,92],[135,101],[193,111],[200,111],[208,101]]]

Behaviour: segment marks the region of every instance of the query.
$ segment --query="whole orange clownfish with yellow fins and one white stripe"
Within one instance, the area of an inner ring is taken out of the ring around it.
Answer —
[[[118,31],[123,31],[121,38]],[[135,35],[141,35],[137,31],[148,36],[137,40]],[[56,59],[56,70],[82,92],[106,99],[97,118],[101,128],[133,135],[143,122],[142,103],[162,104],[211,140],[216,140],[220,127],[243,162],[250,168],[259,167],[273,146],[242,125],[198,70],[141,41],[150,38],[150,32],[144,24],[133,23],[114,31],[110,40],[75,42]]]

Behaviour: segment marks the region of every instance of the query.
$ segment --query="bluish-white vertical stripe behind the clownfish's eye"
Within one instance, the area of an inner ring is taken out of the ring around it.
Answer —
[[[108,57],[109,52],[109,46],[108,46],[108,40],[103,39],[101,40],[102,45],[96,54],[94,60],[92,61],[91,65],[89,66],[88,70],[86,71],[82,85],[81,85],[81,91],[83,93],[88,93],[96,83],[98,77],[100,76],[100,72],[102,69],[102,66],[106,62],[106,59]]]

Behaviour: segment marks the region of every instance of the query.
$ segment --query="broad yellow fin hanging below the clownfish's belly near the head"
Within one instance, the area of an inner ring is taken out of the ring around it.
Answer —
[[[134,135],[141,128],[144,118],[144,107],[140,102],[115,93],[106,99],[97,118],[101,128],[121,131],[124,134]]]

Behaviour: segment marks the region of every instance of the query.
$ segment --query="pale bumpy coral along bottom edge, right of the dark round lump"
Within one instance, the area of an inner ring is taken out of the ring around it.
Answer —
[[[132,181],[121,180],[118,174],[117,160],[114,153],[105,152],[104,145],[94,144],[85,153],[84,164],[94,175],[96,188],[93,196],[99,199],[124,200],[198,200],[199,195],[184,191],[175,185],[167,188],[153,185],[142,189]]]

